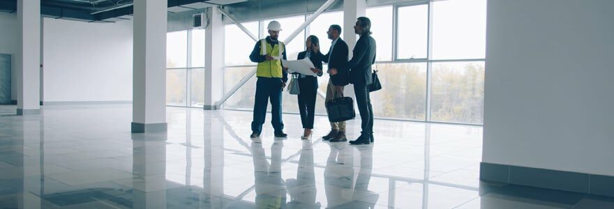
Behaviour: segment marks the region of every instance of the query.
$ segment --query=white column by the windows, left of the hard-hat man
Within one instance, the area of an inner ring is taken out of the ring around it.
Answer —
[[[220,9],[207,10],[211,22],[205,30],[204,109],[219,109],[224,90],[224,23]]]

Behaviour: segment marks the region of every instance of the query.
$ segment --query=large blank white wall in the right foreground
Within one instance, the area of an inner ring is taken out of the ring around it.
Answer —
[[[484,162],[614,176],[612,8],[488,1]]]

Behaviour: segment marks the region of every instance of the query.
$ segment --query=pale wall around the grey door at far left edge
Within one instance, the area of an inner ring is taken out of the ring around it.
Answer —
[[[17,100],[17,71],[15,71],[15,56],[19,47],[19,24],[16,13],[0,13],[0,54],[11,55],[10,67],[10,99]]]

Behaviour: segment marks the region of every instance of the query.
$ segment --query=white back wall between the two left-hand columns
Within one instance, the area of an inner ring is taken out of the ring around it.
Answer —
[[[133,24],[44,18],[45,102],[132,100]]]

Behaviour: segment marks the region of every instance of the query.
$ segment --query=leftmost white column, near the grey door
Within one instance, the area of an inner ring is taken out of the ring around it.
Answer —
[[[40,0],[18,0],[17,114],[40,114]]]

